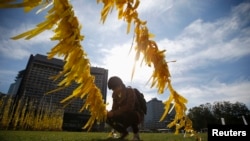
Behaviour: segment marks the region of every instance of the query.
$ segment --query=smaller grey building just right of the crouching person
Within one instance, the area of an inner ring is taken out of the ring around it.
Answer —
[[[164,104],[157,98],[153,98],[147,102],[147,115],[144,118],[144,129],[156,131],[158,129],[166,129],[167,124],[174,118],[173,110],[164,121],[160,122],[164,112]]]

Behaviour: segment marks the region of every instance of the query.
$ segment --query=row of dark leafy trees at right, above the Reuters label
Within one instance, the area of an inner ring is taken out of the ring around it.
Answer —
[[[245,104],[229,101],[201,104],[188,110],[188,117],[193,121],[193,128],[201,130],[208,124],[221,124],[224,118],[226,124],[244,124],[242,116],[249,123],[250,111]]]

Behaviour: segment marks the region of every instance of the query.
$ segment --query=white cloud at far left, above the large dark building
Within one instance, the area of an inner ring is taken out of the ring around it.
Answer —
[[[38,23],[36,23],[38,24]],[[11,39],[14,36],[17,36],[21,33],[24,33],[28,30],[35,28],[35,24],[30,23],[21,23],[19,26],[16,26],[13,29],[1,28],[1,48],[0,54],[2,56],[12,58],[12,59],[24,59],[28,58],[30,54],[44,53],[45,50],[49,51],[53,47],[54,42],[50,40],[53,36],[52,31],[44,31],[43,33],[29,39]],[[43,52],[40,52],[43,51]]]

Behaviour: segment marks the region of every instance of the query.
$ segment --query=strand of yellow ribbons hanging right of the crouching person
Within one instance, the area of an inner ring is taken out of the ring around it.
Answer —
[[[165,50],[159,50],[156,42],[151,38],[154,37],[153,34],[149,33],[147,28],[147,22],[142,21],[138,17],[137,7],[140,4],[139,0],[97,0],[104,4],[101,11],[101,20],[103,23],[109,12],[113,8],[116,8],[118,11],[118,19],[124,19],[127,23],[127,33],[130,32],[131,23],[134,23],[134,33],[135,33],[135,42],[134,47],[136,51],[135,62],[139,60],[140,55],[143,55],[143,60],[149,67],[153,65],[154,71],[151,76],[151,87],[157,87],[158,93],[164,93],[166,88],[170,91],[170,96],[168,100],[164,102],[165,112],[163,113],[160,121],[163,121],[167,116],[171,103],[174,103],[174,108],[176,111],[175,119],[171,122],[168,127],[176,126],[176,133],[179,129],[185,124],[179,124],[180,122],[185,122],[186,119],[183,118],[186,116],[186,103],[187,100],[178,94],[171,84],[171,75],[168,69],[168,63],[165,61]],[[133,68],[133,73],[134,73]],[[132,74],[133,77],[133,74]]]

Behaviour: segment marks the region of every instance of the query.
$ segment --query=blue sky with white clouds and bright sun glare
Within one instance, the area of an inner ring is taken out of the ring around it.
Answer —
[[[82,46],[92,66],[108,69],[109,76],[120,76],[126,85],[139,88],[147,100],[166,100],[168,90],[160,95],[147,84],[152,68],[138,64],[131,81],[133,34],[126,34],[127,25],[117,19],[117,12],[101,24],[102,4],[94,0],[71,3],[82,24]],[[169,63],[171,79],[176,91],[188,99],[188,108],[216,101],[238,101],[250,108],[249,0],[147,0],[141,1],[138,11],[155,34],[159,49],[166,50],[166,60],[177,60]],[[44,20],[45,11],[35,13],[0,9],[1,92],[8,91],[30,54],[46,55],[57,43],[50,41],[51,31],[31,40],[10,39]],[[110,95],[108,90],[108,101]]]

